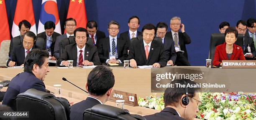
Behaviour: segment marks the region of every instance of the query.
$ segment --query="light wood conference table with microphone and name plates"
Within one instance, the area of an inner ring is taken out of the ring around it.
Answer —
[[[114,90],[120,90],[124,92],[130,92],[137,94],[137,97],[143,97],[153,95],[151,92],[151,69],[139,69],[139,68],[123,68],[123,67],[110,67],[113,70],[113,74],[115,76],[115,85],[113,87]],[[220,69],[220,68],[206,68],[205,66],[173,66],[173,67],[164,67],[159,68],[191,68],[191,69],[200,69],[201,71],[208,74],[207,79],[220,79],[220,80],[232,80],[236,82],[246,79],[249,80],[247,84],[255,86],[255,78],[256,78],[256,69]],[[79,88],[71,85],[67,81],[62,80],[62,77],[65,77],[70,82],[75,85],[81,87],[85,90],[85,83],[87,82],[87,76],[92,70],[92,68],[82,68],[82,67],[74,67],[74,68],[57,68],[57,67],[49,67],[50,72],[46,75],[44,80],[44,84],[46,85],[46,89],[50,91],[54,91],[55,84],[61,85],[61,97],[65,97],[69,100],[69,102],[80,102],[85,100],[87,97],[87,93],[80,90]],[[23,68],[0,68],[0,81],[3,80],[11,80],[18,73],[23,72]],[[246,77],[245,77],[246,76]],[[239,84],[239,86],[246,86],[246,84]],[[253,90],[256,90],[255,87],[252,87]],[[255,92],[255,91],[251,91]],[[156,96],[160,96],[162,93],[156,93]],[[115,106],[115,102],[108,101],[106,105]],[[140,106],[129,106],[125,105],[125,109],[128,109],[133,114],[139,115],[150,115],[158,110],[153,110],[146,107]]]

